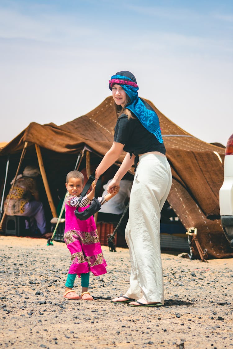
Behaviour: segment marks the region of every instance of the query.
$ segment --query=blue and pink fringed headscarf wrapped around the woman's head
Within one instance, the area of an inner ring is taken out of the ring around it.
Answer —
[[[131,110],[147,131],[153,133],[158,141],[163,143],[158,115],[146,101],[138,97],[139,87],[135,76],[126,70],[118,72],[109,80],[110,90],[114,84],[120,85],[130,97],[130,102],[126,104],[125,108]]]

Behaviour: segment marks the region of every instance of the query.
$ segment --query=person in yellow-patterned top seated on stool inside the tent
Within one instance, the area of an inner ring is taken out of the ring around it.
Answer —
[[[42,202],[35,178],[41,174],[35,166],[26,166],[23,174],[17,176],[14,187],[10,188],[4,202],[4,210],[8,216],[25,216],[35,218],[39,236],[51,237],[46,234],[46,221]],[[13,184],[13,181],[10,183]],[[8,202],[9,201],[9,202]]]

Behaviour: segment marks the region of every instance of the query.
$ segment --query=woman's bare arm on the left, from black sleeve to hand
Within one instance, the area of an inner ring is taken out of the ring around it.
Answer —
[[[100,178],[101,174],[104,173],[112,164],[114,164],[122,153],[124,144],[113,142],[111,148],[104,155],[101,163],[95,170],[95,181]],[[127,172],[127,171],[126,171]]]

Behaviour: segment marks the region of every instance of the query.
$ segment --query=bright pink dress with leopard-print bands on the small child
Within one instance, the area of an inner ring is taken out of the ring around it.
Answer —
[[[107,273],[107,263],[103,258],[98,232],[93,216],[80,221],[74,211],[76,205],[71,206],[74,195],[68,195],[65,202],[65,231],[64,241],[70,250],[72,264],[69,274],[84,274],[92,272],[94,275]],[[79,207],[79,211],[87,207]]]

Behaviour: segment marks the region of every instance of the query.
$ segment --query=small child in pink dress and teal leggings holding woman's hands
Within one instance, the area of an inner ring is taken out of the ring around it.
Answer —
[[[83,190],[83,174],[79,171],[71,171],[66,176],[66,189],[69,195],[65,202],[65,232],[64,241],[71,252],[72,264],[67,276],[64,298],[93,300],[88,292],[90,271],[94,275],[107,273],[106,261],[103,258],[99,236],[93,216],[85,221],[80,221],[74,211],[78,206],[79,196]],[[111,194],[98,198],[101,205],[110,200],[119,191],[115,186]],[[79,205],[79,211],[86,209],[95,196],[95,184],[92,184],[92,191],[84,196]],[[76,275],[81,276],[82,294],[77,295],[72,289]]]

